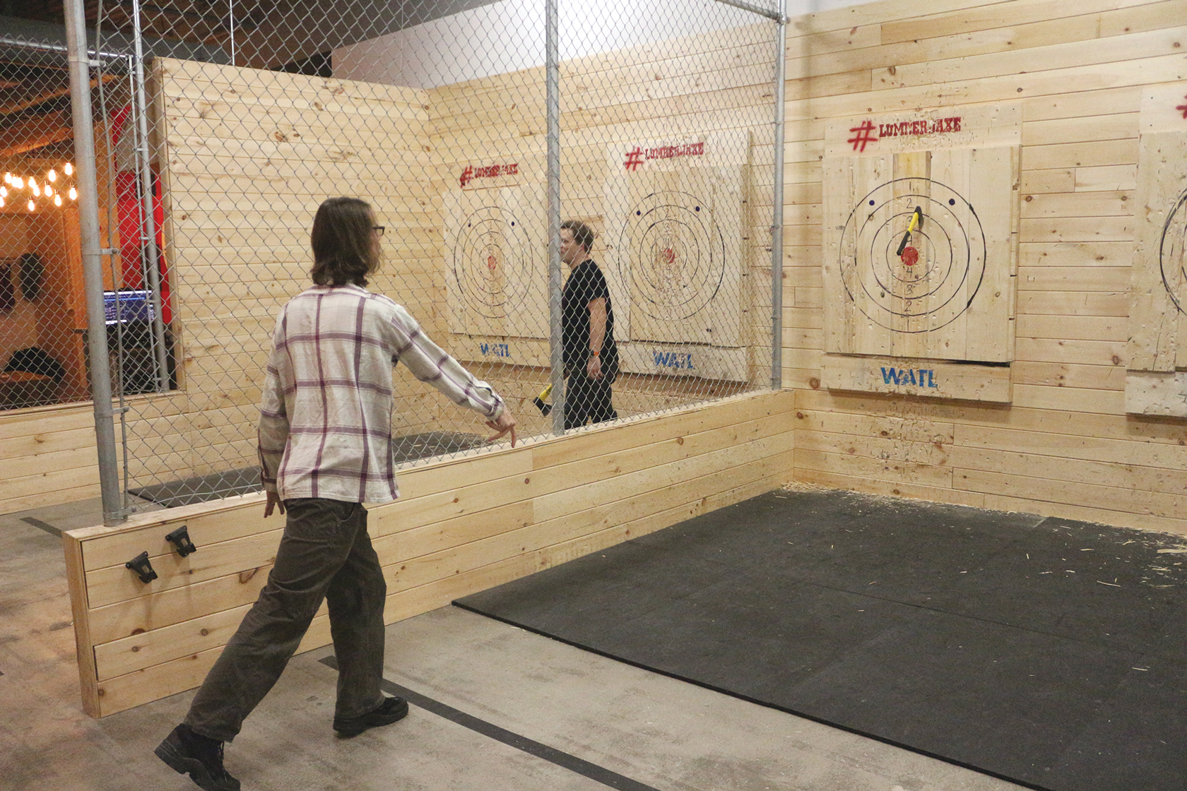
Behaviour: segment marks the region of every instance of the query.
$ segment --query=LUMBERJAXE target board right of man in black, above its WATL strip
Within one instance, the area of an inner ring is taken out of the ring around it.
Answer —
[[[748,132],[607,149],[607,278],[622,342],[740,347]]]

